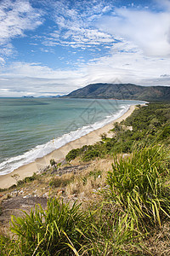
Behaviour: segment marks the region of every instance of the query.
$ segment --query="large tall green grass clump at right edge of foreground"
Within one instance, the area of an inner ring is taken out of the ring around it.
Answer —
[[[119,209],[128,214],[131,227],[147,230],[147,225],[170,218],[169,170],[165,150],[156,146],[134,152],[127,160],[115,157],[107,183],[110,196]]]

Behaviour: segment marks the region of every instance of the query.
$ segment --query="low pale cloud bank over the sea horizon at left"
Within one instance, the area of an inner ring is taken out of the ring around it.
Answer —
[[[0,96],[65,94],[82,84],[84,75],[83,69],[62,71],[37,63],[14,62],[1,68]]]

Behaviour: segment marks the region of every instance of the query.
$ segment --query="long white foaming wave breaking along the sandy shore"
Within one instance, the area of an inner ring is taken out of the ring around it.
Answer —
[[[13,172],[15,169],[19,168],[20,166],[24,166],[36,160],[37,158],[41,158],[51,152],[53,152],[57,148],[61,148],[66,143],[70,143],[84,135],[87,135],[91,131],[95,131],[115,119],[118,119],[122,116],[123,113],[126,113],[130,105],[122,106],[118,113],[114,113],[105,117],[104,120],[95,122],[92,125],[82,126],[78,128],[76,131],[71,131],[69,133],[65,133],[61,137],[57,137],[48,143],[37,145],[36,148],[32,148],[31,150],[27,151],[25,154],[20,154],[15,157],[11,157],[2,163],[0,163],[0,175],[5,175],[10,172]]]

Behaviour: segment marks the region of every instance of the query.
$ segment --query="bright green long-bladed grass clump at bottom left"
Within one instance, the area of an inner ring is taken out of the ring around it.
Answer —
[[[80,210],[80,205],[70,207],[69,204],[51,199],[47,211],[38,206],[35,212],[25,212],[22,218],[12,217],[11,230],[16,235],[15,241],[13,246],[10,241],[10,251],[2,255],[79,255],[85,227],[86,216]],[[3,236],[3,251],[4,239]]]

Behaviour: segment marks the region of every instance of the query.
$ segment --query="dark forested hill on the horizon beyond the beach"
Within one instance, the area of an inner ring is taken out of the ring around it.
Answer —
[[[170,101],[170,86],[140,86],[135,84],[88,84],[81,89],[72,91],[65,97]]]

